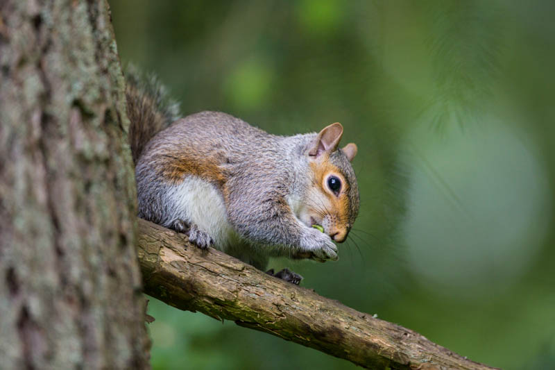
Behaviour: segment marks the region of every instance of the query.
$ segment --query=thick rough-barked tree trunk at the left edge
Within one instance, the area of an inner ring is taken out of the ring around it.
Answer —
[[[0,1],[2,369],[148,367],[105,1]]]

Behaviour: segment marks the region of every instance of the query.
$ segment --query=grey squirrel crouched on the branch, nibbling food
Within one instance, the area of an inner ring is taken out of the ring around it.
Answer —
[[[133,67],[126,98],[139,217],[257,269],[270,257],[338,259],[334,241],[345,241],[359,212],[357,146],[339,149],[341,124],[278,136],[223,112],[181,118],[157,78]]]

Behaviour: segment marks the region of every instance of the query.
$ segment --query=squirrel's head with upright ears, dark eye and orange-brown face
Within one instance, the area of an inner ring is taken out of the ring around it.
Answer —
[[[339,149],[343,126],[325,127],[309,144],[311,182],[300,210],[306,225],[320,225],[336,242],[344,242],[359,213],[359,188],[351,161],[357,145],[349,143]]]

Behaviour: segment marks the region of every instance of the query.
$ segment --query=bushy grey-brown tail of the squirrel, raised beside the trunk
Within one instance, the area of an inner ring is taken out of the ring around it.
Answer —
[[[137,163],[148,140],[180,119],[179,104],[154,75],[145,75],[133,65],[126,67],[127,115],[131,121],[129,142]]]

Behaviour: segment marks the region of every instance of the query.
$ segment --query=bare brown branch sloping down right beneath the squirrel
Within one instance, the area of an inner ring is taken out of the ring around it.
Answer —
[[[493,369],[402,326],[286,283],[138,220],[144,292],[180,310],[261,330],[367,369]]]

